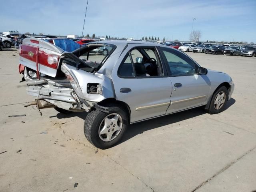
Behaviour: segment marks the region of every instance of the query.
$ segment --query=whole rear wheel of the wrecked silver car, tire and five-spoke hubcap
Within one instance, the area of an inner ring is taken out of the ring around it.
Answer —
[[[85,118],[84,135],[100,149],[116,145],[128,125],[128,114],[118,104],[108,104],[108,113],[93,109]]]

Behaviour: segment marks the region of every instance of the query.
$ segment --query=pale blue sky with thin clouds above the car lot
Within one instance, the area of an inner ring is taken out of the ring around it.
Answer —
[[[9,0],[1,9],[0,32],[82,34],[87,0]],[[256,43],[256,0],[89,0],[84,34]]]

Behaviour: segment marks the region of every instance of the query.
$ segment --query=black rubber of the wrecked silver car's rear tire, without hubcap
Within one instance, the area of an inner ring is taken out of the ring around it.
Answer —
[[[102,112],[97,109],[93,109],[88,113],[84,121],[84,135],[86,139],[95,147],[100,149],[107,149],[116,145],[122,138],[127,126],[128,126],[128,113],[120,105],[109,103],[107,104],[109,112]],[[99,136],[99,127],[102,120],[109,114],[116,113],[121,116],[123,124],[122,129],[118,136],[110,141],[103,141]]]

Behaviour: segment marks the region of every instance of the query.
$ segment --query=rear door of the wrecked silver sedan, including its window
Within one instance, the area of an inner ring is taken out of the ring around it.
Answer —
[[[156,47],[129,44],[112,71],[116,100],[130,107],[130,122],[166,114],[172,84]]]

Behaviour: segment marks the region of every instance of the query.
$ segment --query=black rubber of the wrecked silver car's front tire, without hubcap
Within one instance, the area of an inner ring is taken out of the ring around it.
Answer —
[[[223,103],[222,107],[221,107],[220,109],[216,109],[216,108],[214,107],[214,100],[215,100],[217,94],[220,93],[220,92],[224,92],[224,93],[225,93],[226,99],[225,99],[225,102]],[[206,112],[208,112],[208,113],[210,113],[210,114],[217,114],[217,113],[222,112],[222,111],[225,109],[225,106],[226,106],[227,101],[228,101],[228,90],[227,90],[227,88],[226,88],[225,86],[222,86],[222,87],[218,88],[218,89],[214,92],[214,94],[213,94],[213,96],[212,96],[212,99],[211,99],[211,102],[210,102],[210,106],[209,106],[208,109],[206,109]]]

